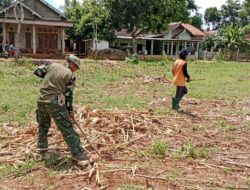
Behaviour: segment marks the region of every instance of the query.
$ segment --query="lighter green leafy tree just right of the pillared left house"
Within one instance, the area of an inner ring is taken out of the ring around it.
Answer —
[[[67,30],[74,40],[93,38],[95,34],[98,39],[109,40],[114,35],[102,1],[83,0],[82,4],[75,1],[66,7],[66,16],[74,22],[73,28]]]

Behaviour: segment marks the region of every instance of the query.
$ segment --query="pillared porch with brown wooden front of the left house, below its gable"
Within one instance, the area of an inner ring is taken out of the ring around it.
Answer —
[[[23,54],[65,54],[65,28],[71,23],[24,21],[21,26],[19,50]],[[14,19],[0,19],[2,45],[17,43],[17,24]]]

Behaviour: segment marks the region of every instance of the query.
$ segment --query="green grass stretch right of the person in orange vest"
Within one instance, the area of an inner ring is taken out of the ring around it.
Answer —
[[[191,62],[191,78],[204,78],[190,83],[190,96],[202,99],[237,99],[249,97],[249,63]]]

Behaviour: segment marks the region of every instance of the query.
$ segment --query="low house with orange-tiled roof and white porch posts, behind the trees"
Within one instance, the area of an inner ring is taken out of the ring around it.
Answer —
[[[192,55],[198,56],[199,46],[206,34],[200,29],[182,22],[171,23],[167,31],[161,34],[142,34],[137,40],[137,52],[148,55],[162,55],[164,52],[170,56],[178,55],[182,48],[187,48]],[[132,37],[122,30],[116,33],[112,47],[132,47]]]

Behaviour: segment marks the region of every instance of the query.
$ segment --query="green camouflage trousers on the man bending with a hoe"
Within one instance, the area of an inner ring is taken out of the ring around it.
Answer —
[[[55,121],[57,128],[62,133],[72,156],[76,157],[79,154],[83,154],[84,150],[81,147],[80,137],[73,128],[65,105],[59,105],[58,99],[55,98],[50,103],[38,102],[37,107],[36,115],[39,124],[38,148],[48,148],[48,132],[52,118]]]

